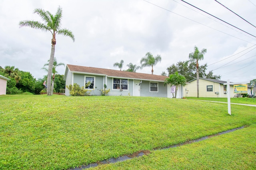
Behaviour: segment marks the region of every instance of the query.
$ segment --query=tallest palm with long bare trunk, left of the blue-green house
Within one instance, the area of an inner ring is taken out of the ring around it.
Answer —
[[[44,32],[50,31],[52,33],[52,49],[49,59],[49,67],[48,67],[48,75],[47,75],[47,82],[51,82],[52,77],[52,67],[54,62],[54,52],[55,52],[55,45],[56,45],[56,34],[60,34],[63,36],[70,37],[73,42],[75,41],[73,33],[64,28],[62,29],[61,26],[61,19],[62,19],[62,8],[60,6],[57,9],[57,12],[55,15],[52,15],[49,11],[42,10],[40,8],[36,8],[34,10],[34,13],[38,14],[44,23],[38,22],[38,21],[30,21],[30,20],[24,20],[20,21],[19,25],[21,27],[30,27],[35,28],[38,30],[42,30]],[[47,83],[47,95],[51,95],[51,83]]]

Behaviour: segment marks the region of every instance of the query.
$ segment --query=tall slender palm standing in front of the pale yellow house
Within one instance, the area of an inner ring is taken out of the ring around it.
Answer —
[[[199,64],[198,61],[204,59],[204,53],[207,52],[207,49],[203,48],[202,51],[198,50],[198,47],[194,47],[194,52],[188,55],[190,62],[196,63],[196,85],[197,85],[197,97],[199,98]]]

